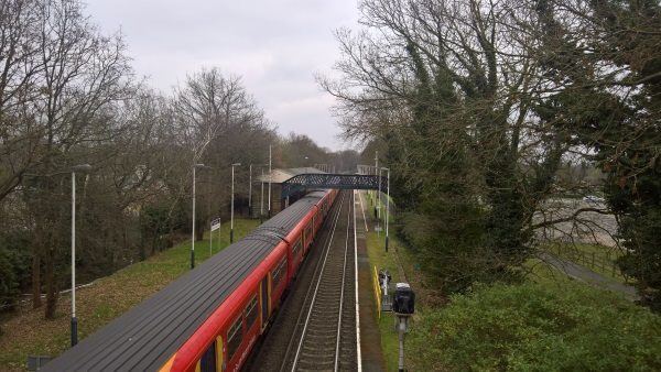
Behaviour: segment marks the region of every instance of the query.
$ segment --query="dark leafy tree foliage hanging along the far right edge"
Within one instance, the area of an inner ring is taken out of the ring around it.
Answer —
[[[594,41],[596,55],[613,65],[627,66],[624,83],[637,89],[624,97],[590,92],[572,116],[582,119],[576,128],[578,139],[595,147],[594,160],[607,174],[606,199],[619,217],[619,234],[627,249],[620,267],[637,280],[642,302],[661,311],[660,37],[630,32],[659,30],[661,7],[657,1],[617,0],[590,7],[597,19],[604,20],[596,23],[600,34],[609,35]],[[577,96],[573,95],[574,99]]]

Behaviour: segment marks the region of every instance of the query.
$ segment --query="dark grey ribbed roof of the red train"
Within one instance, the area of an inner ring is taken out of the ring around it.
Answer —
[[[158,370],[324,196],[292,204],[44,366]]]

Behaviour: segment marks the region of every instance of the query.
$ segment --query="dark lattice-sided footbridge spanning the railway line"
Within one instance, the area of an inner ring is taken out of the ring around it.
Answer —
[[[383,176],[367,174],[304,173],[282,183],[282,198],[306,188],[380,189],[388,193],[388,183]]]

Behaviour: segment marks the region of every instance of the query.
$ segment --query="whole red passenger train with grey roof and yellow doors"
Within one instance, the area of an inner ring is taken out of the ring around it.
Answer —
[[[306,195],[44,370],[238,371],[336,196]]]

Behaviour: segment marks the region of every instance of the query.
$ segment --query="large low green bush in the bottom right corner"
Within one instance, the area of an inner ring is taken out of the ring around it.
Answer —
[[[498,284],[455,295],[414,325],[425,370],[661,370],[661,317],[581,283]]]

